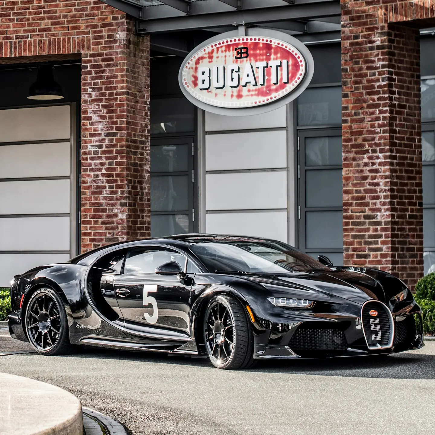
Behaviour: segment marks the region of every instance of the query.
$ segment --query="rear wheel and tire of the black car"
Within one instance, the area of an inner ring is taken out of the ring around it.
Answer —
[[[67,313],[56,291],[40,288],[26,307],[25,328],[30,345],[41,355],[70,353]]]

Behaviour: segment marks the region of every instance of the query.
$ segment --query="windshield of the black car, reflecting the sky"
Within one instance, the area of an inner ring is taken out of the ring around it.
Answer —
[[[282,274],[330,271],[319,261],[284,243],[268,241],[219,241],[198,243],[190,250],[209,272]]]

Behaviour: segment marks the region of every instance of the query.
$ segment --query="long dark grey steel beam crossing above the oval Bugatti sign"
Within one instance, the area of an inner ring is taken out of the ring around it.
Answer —
[[[196,2],[193,2],[193,5],[194,3]],[[283,18],[286,20],[309,20],[317,17],[339,15],[340,3],[337,0],[320,0],[306,3],[298,2],[291,6],[243,9],[220,13],[192,13],[183,17],[138,20],[137,31],[139,33],[162,33],[177,30],[210,29],[240,23],[259,25],[261,23],[282,21]]]

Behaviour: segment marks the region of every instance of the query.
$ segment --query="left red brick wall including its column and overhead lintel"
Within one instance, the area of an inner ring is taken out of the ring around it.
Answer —
[[[82,251],[150,235],[149,38],[99,0],[0,1],[0,63],[81,57]]]

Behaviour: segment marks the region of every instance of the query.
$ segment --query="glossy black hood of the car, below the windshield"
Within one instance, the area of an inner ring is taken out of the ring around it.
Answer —
[[[331,272],[295,272],[283,276],[249,277],[269,290],[314,300],[331,300],[331,296],[363,304],[370,299],[385,303],[385,292],[378,280],[345,270]]]

